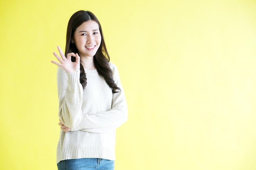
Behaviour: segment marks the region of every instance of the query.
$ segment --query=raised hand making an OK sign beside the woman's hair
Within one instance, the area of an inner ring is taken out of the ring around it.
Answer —
[[[55,52],[53,53],[53,55],[56,57],[56,59],[59,62],[55,62],[55,61],[51,61],[53,64],[56,64],[57,66],[60,66],[61,68],[63,68],[67,73],[75,73],[77,71],[80,70],[80,57],[79,55],[76,53],[68,53],[67,54],[67,58],[65,57],[65,55],[63,54],[61,48],[59,46],[57,46],[58,51],[61,55],[61,57],[59,57]],[[72,62],[71,61],[71,56],[76,57],[76,61]]]

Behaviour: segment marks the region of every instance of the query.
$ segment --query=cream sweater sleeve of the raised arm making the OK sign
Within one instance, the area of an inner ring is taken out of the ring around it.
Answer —
[[[76,127],[82,117],[83,87],[80,84],[80,71],[66,73],[58,67],[57,86],[59,99],[58,116],[67,127]]]

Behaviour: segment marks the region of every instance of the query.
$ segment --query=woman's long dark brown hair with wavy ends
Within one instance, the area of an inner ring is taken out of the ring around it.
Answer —
[[[65,56],[67,57],[68,53],[78,53],[76,45],[72,43],[72,39],[74,38],[74,32],[76,31],[76,28],[78,26],[80,26],[83,22],[88,20],[93,20],[97,22],[99,24],[99,31],[101,33],[101,44],[96,54],[93,56],[94,66],[96,67],[99,75],[104,77],[108,86],[112,88],[112,93],[117,93],[120,91],[120,88],[117,87],[117,84],[115,84],[115,81],[112,76],[112,70],[109,66],[110,57],[108,55],[106,44],[103,38],[101,24],[99,23],[99,20],[92,12],[77,11],[71,16],[67,24]],[[80,62],[80,83],[82,84],[83,88],[85,88],[87,84],[86,80],[87,78],[86,78],[85,70]]]

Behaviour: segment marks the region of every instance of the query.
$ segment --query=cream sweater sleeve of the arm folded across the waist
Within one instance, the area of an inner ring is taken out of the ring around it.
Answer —
[[[112,93],[111,109],[93,115],[83,115],[80,124],[75,128],[71,128],[71,131],[82,130],[93,133],[104,133],[115,130],[127,121],[128,110],[124,89],[121,85],[117,68],[114,64],[112,65],[113,79],[121,91]]]

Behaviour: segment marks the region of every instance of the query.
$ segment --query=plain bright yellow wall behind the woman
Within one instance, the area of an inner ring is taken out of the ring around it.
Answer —
[[[0,169],[56,170],[52,52],[99,18],[129,119],[116,170],[256,169],[255,0],[0,1]]]

